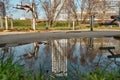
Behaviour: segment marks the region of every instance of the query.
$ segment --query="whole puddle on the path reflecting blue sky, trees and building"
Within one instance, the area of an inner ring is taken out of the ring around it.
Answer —
[[[45,75],[52,73],[57,76],[67,76],[74,72],[89,73],[98,67],[109,70],[117,69],[107,50],[99,47],[114,46],[114,53],[120,54],[120,40],[114,38],[80,38],[40,41],[16,47],[1,48],[3,53],[14,53],[14,60],[21,60],[26,71],[39,72]],[[118,61],[120,61],[118,59]]]

